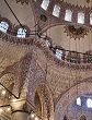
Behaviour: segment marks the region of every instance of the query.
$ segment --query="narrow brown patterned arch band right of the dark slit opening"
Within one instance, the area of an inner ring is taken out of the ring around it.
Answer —
[[[54,119],[54,103],[50,91],[45,83],[39,84],[35,88],[35,93],[38,93],[42,104],[42,118],[49,120]]]

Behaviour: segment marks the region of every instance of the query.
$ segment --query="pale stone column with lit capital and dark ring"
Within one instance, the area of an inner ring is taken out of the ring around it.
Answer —
[[[11,120],[30,120],[30,106],[25,100],[12,101]]]

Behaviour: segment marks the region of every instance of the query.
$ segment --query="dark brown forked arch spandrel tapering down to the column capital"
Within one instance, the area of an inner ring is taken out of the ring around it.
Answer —
[[[23,85],[26,84],[26,75],[28,73],[30,64],[32,61],[32,53],[27,52],[19,62],[15,62],[13,65],[9,65],[0,74],[0,80],[10,74],[13,77],[14,87],[12,93],[19,98],[23,91]],[[3,82],[3,81],[2,81]]]

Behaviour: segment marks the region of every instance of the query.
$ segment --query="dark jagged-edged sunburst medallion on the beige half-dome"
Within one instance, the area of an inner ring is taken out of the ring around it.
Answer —
[[[84,38],[84,35],[88,35],[89,29],[83,27],[83,26],[73,26],[73,25],[68,25],[65,26],[65,33],[67,33],[68,36],[70,36],[70,38],[74,38],[74,39],[80,39],[80,38]]]

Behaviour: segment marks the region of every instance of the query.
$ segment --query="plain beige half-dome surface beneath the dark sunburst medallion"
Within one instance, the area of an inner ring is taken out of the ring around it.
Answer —
[[[92,50],[92,40],[91,40],[92,31],[85,28],[88,29],[85,35],[83,33],[83,37],[82,37],[80,34],[79,35],[80,39],[79,38],[74,39],[74,35],[71,35],[74,33],[71,33],[69,28],[66,29],[66,27],[68,26],[58,25],[50,27],[47,31],[47,35],[53,39],[53,43],[56,46],[60,46],[64,49],[78,51],[78,52],[85,52]]]

